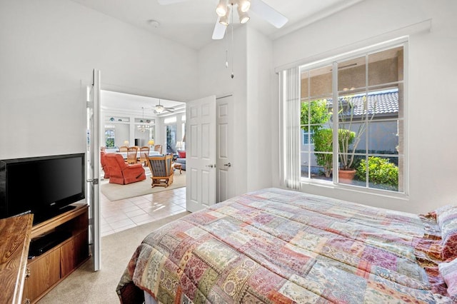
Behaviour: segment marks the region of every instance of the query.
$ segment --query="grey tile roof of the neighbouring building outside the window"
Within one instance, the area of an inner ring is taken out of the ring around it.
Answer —
[[[356,94],[351,96],[350,102],[354,105],[353,116],[360,116],[363,113],[363,96],[365,94]],[[343,101],[343,97],[339,98]],[[332,99],[327,99],[331,106]],[[376,114],[393,114],[398,113],[398,89],[388,91],[377,91],[375,93],[368,93],[368,111]],[[346,115],[351,113],[350,110],[345,111]]]

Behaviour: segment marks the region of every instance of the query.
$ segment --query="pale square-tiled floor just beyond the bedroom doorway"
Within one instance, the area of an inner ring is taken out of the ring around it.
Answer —
[[[101,236],[186,211],[186,187],[109,201],[100,193]]]

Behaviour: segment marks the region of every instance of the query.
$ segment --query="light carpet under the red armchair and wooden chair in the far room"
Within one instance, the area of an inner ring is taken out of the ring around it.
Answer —
[[[100,191],[110,201],[119,201],[124,198],[134,198],[136,196],[144,196],[150,193],[156,193],[176,188],[186,187],[186,171],[179,174],[179,170],[174,172],[173,183],[168,187],[151,187],[150,175],[146,175],[144,181],[129,183],[128,185],[119,185],[117,183],[109,183],[109,179],[101,182]]]

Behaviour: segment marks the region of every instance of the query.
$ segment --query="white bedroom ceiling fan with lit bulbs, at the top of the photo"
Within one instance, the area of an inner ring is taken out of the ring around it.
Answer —
[[[189,0],[158,0],[159,4],[175,4],[179,2]],[[227,26],[233,20],[233,16],[230,19],[231,12],[233,9],[238,11],[238,17],[241,24],[246,23],[249,20],[249,11],[253,11],[261,18],[268,21],[276,28],[280,29],[284,24],[287,23],[288,19],[282,14],[278,13],[271,6],[268,6],[262,0],[219,0],[219,4],[216,6],[216,14],[218,16],[216,25],[214,26],[213,39],[223,39],[226,33]]]

